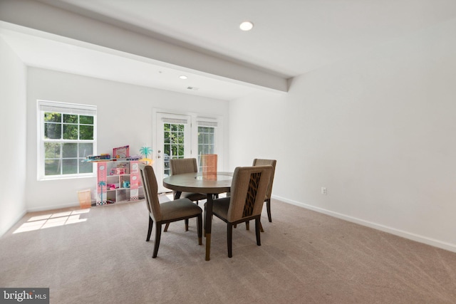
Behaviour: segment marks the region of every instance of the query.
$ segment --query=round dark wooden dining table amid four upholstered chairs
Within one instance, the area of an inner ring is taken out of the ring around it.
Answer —
[[[212,204],[218,194],[230,192],[232,172],[217,173],[184,173],[171,175],[163,179],[163,186],[175,191],[175,199],[182,192],[207,194],[206,212],[204,218],[204,236],[206,237],[206,261],[210,259]]]

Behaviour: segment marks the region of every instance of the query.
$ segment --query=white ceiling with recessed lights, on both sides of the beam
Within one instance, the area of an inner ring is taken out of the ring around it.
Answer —
[[[455,0],[41,0],[147,32],[264,73],[291,78],[456,17]],[[249,20],[254,29],[239,30]],[[259,88],[150,58],[1,26],[28,65],[231,100]],[[128,72],[127,72],[128,71]],[[161,73],[160,73],[161,72]],[[193,71],[195,72],[195,71]],[[150,80],[146,75],[160,75]],[[185,73],[187,80],[177,75]],[[187,87],[198,90],[188,90]]]

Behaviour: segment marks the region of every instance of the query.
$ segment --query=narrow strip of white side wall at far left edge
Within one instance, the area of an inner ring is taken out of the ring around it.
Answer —
[[[0,38],[0,236],[26,212],[26,66]]]

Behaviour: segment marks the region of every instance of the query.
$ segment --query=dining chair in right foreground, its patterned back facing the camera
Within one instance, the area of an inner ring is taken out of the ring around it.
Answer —
[[[227,223],[228,257],[232,255],[235,224],[255,220],[257,245],[261,246],[260,218],[264,197],[271,178],[272,166],[237,167],[234,169],[230,196],[214,199],[212,213]],[[206,210],[204,209],[204,212]],[[205,218],[205,216],[204,216]]]

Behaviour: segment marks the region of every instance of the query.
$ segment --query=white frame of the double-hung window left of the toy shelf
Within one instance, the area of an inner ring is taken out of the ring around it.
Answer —
[[[76,103],[61,103],[49,100],[37,100],[37,179],[41,180],[53,180],[53,179],[75,179],[81,177],[96,177],[96,170],[93,169],[90,173],[78,173],[78,174],[56,174],[56,175],[45,175],[44,165],[44,143],[49,140],[44,138],[44,112],[60,112],[63,114],[78,114],[78,115],[90,115],[93,116],[93,140],[69,140],[75,143],[93,143],[93,154],[96,155],[97,151],[97,107],[95,105],[82,105]],[[52,140],[53,142],[68,142],[68,140]]]

